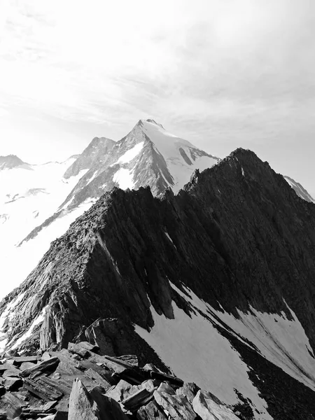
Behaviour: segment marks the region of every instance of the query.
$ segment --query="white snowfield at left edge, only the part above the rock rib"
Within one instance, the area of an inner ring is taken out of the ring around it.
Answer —
[[[28,165],[0,171],[0,235],[16,243],[39,223],[50,216],[64,200],[78,177],[63,178],[67,167],[73,163],[49,162],[45,165]],[[82,176],[83,173],[80,174]]]

